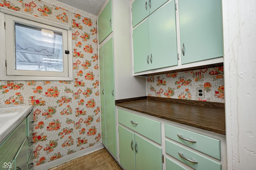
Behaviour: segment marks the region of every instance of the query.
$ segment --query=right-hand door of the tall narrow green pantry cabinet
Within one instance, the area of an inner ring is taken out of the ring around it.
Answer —
[[[104,44],[103,55],[107,148],[116,157],[116,105],[114,97],[113,38]]]

